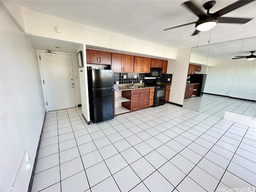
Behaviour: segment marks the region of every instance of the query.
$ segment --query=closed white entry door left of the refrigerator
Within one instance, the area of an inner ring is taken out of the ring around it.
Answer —
[[[48,111],[76,106],[72,56],[39,52]]]

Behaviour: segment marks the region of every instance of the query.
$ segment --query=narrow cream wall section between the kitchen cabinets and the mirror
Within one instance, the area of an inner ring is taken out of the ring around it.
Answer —
[[[170,102],[183,105],[191,48],[177,51],[176,60],[168,60],[167,73],[172,75]]]

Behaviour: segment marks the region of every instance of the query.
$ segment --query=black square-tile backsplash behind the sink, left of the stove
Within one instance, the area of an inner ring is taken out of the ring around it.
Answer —
[[[131,84],[132,82],[144,83],[144,78],[145,78],[144,73],[116,73],[116,72],[114,72],[114,84]]]

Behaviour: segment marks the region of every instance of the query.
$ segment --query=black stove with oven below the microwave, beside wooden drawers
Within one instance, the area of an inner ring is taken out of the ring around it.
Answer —
[[[155,94],[154,94],[154,104],[153,107],[164,105],[165,102],[165,94],[166,94],[166,86],[156,84],[157,78],[153,77],[145,77],[145,87],[147,86],[155,86]]]

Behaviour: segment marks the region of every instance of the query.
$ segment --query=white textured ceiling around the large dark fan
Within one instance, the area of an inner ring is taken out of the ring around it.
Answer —
[[[197,0],[202,7],[207,0]],[[256,1],[224,16],[254,18],[238,24],[217,24],[200,36],[190,36],[194,24],[163,31],[165,28],[194,22],[198,18],[180,5],[184,0],[32,0],[20,1],[22,6],[73,22],[180,49],[256,36]],[[216,12],[235,0],[217,0],[210,12]],[[203,8],[202,8],[203,9]],[[199,38],[199,40],[198,40]]]

